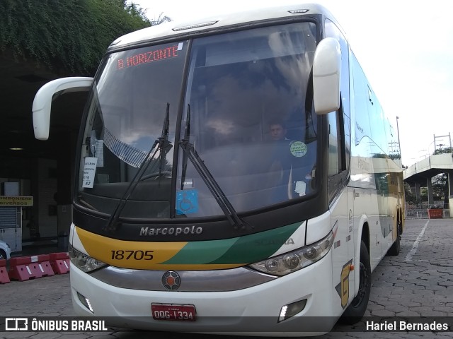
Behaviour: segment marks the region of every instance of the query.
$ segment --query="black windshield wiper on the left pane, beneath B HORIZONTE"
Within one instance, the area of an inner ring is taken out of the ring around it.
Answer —
[[[162,169],[162,164],[165,161],[165,155],[168,153],[168,150],[173,147],[171,143],[168,141],[168,129],[170,125],[170,120],[169,120],[169,108],[170,104],[167,102],[167,109],[166,109],[166,114],[165,114],[165,119],[164,119],[164,125],[162,127],[162,136],[157,138],[149,152],[147,153],[147,156],[144,158],[142,165],[140,165],[139,170],[137,173],[134,175],[134,178],[130,182],[130,184],[127,186],[127,189],[125,191],[125,194],[122,195],[120,201],[117,203],[117,206],[115,207],[115,210],[113,210],[113,213],[110,215],[110,218],[108,218],[107,225],[103,227],[103,231],[115,231],[117,228],[117,221],[120,218],[121,212],[123,208],[125,208],[125,205],[127,201],[129,200],[132,192],[134,191],[135,187],[137,187],[137,184],[140,182],[142,179],[144,172],[147,171],[149,164],[151,164],[151,161],[154,160],[154,157],[156,157],[156,153],[158,150],[160,150],[161,154],[161,166],[159,167],[159,174],[161,173]],[[156,147],[157,146],[157,147]],[[155,149],[155,150],[154,150]],[[153,153],[154,150],[154,153]],[[151,155],[153,153],[153,155]],[[165,155],[163,155],[165,153]],[[151,157],[150,157],[151,155]]]

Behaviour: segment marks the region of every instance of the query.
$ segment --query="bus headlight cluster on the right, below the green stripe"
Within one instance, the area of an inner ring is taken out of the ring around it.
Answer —
[[[327,237],[319,242],[280,256],[268,258],[265,261],[252,263],[248,267],[272,275],[287,275],[295,270],[300,270],[312,263],[316,263],[323,256],[326,256],[332,247],[333,237],[333,232],[330,232]]]

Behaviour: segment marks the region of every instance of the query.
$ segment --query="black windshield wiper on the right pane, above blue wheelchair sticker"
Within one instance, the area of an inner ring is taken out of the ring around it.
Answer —
[[[197,170],[198,174],[200,174],[200,177],[203,179],[203,182],[205,182],[207,188],[211,191],[212,196],[214,196],[220,208],[222,208],[222,211],[226,216],[226,219],[228,219],[231,226],[233,226],[235,230],[239,228],[241,230],[245,229],[247,225],[246,222],[239,218],[239,215],[236,213],[236,210],[234,209],[233,205],[231,205],[228,198],[226,198],[226,195],[220,188],[216,179],[212,177],[212,174],[210,170],[206,167],[205,162],[202,160],[200,155],[198,155],[197,150],[195,150],[193,144],[189,142],[189,138],[190,138],[190,107],[188,107],[188,116],[185,121],[184,138],[181,139],[179,142],[180,147],[184,151],[182,164],[183,168],[181,173],[181,190],[183,189],[184,186],[185,172],[187,169],[187,159],[189,159],[190,162],[192,162],[193,167],[195,167],[195,169]],[[253,228],[253,226],[251,227]]]

